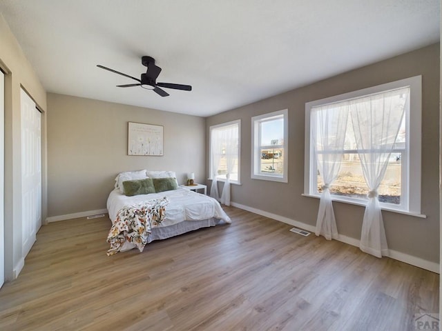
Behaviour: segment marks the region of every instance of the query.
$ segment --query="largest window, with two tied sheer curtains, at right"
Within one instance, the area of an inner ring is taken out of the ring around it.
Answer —
[[[311,101],[305,112],[306,195],[319,197],[325,187],[318,161],[329,173],[339,163],[329,185],[332,199],[365,204],[372,192],[365,180],[369,167],[385,161],[385,174],[376,190],[381,208],[420,214],[421,76]],[[343,129],[336,130],[337,114],[345,112],[348,116],[339,127]],[[338,132],[344,135],[338,138]]]

